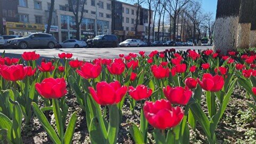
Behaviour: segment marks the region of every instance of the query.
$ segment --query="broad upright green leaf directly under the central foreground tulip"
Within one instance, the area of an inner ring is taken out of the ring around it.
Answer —
[[[116,105],[111,105],[109,110],[109,125],[107,143],[116,143],[119,130],[119,110]]]

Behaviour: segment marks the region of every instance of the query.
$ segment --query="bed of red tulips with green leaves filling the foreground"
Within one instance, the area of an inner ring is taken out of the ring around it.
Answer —
[[[79,130],[89,133],[91,143],[116,143],[121,125],[134,143],[189,143],[198,126],[209,143],[217,143],[216,130],[236,85],[244,87],[254,100],[247,105],[256,109],[253,51],[170,49],[92,62],[71,59],[70,53],[58,56],[41,66],[35,52],[0,59],[3,141],[22,143],[21,127],[35,116],[53,143],[72,143],[78,114],[70,114],[71,97],[65,95],[75,95],[86,121]],[[124,123],[123,109],[138,121]]]

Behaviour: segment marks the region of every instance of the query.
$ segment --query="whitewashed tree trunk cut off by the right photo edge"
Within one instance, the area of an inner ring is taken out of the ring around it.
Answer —
[[[256,47],[256,3],[253,4],[252,9],[252,15],[251,17],[251,31],[250,31],[250,47]]]

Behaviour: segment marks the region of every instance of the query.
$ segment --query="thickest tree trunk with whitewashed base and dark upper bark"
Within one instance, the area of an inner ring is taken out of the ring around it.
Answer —
[[[218,0],[214,26],[214,50],[236,49],[237,23],[241,0]]]

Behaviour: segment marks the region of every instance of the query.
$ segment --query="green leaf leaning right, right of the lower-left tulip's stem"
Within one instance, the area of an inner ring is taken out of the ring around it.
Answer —
[[[77,112],[74,112],[70,118],[66,133],[64,135],[64,143],[72,143],[73,134],[76,128]]]

